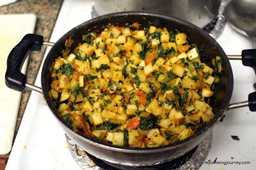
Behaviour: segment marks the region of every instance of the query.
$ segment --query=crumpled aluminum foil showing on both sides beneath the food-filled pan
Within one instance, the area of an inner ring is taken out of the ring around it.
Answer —
[[[67,134],[65,134],[67,138],[67,144],[68,144],[68,150],[70,151],[72,157],[77,162],[79,167],[81,169],[90,169],[90,170],[105,170],[102,167],[97,166],[88,155],[86,155],[86,152],[81,148],[80,146],[76,145],[72,139],[70,139]],[[210,150],[212,145],[212,132],[198,145],[196,148],[196,151],[192,154],[190,159],[186,163],[184,163],[182,166],[177,168],[177,170],[193,170],[193,169],[199,169],[200,164],[193,164],[193,162],[196,161],[204,161]]]

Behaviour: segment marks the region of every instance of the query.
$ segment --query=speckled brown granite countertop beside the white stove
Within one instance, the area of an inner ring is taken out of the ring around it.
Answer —
[[[40,34],[44,36],[45,41],[49,41],[62,2],[63,0],[19,0],[15,3],[1,6],[0,14],[34,13],[36,15],[35,34]],[[32,52],[30,54],[26,71],[28,83],[33,84],[35,82],[45,50],[46,48],[43,47],[40,52]],[[19,129],[20,121],[22,120],[30,94],[30,90],[25,90],[22,93],[13,141]],[[8,155],[6,156],[8,157]]]

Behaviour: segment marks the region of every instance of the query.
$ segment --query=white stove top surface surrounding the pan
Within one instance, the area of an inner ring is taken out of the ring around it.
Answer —
[[[65,32],[89,20],[91,10],[92,0],[65,0],[50,41],[56,42]],[[252,48],[248,38],[231,29],[228,24],[217,41],[229,55],[241,55],[242,50]],[[48,52],[49,49],[46,53]],[[247,101],[248,94],[255,91],[255,73],[252,68],[243,66],[240,60],[230,63],[234,74],[234,92],[230,103]],[[41,70],[42,67],[35,82],[38,87],[41,86]],[[225,115],[225,120],[213,129],[212,148],[206,159],[211,161],[210,165],[204,164],[200,169],[254,169],[256,114],[246,107],[227,111]],[[240,140],[232,139],[232,135],[238,136]],[[214,160],[219,164],[211,164]],[[70,155],[63,130],[47,107],[43,96],[37,92],[31,93],[6,166],[6,170],[13,169],[80,170]]]

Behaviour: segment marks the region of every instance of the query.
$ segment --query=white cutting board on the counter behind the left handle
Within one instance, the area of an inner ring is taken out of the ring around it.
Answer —
[[[6,60],[12,48],[35,30],[34,14],[0,15],[0,155],[10,152],[20,106],[21,93],[5,85]],[[22,73],[26,73],[28,59]]]

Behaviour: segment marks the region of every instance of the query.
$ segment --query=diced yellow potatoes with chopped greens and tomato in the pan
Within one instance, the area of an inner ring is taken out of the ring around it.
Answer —
[[[150,25],[108,25],[72,38],[51,67],[50,94],[74,131],[116,146],[170,145],[214,117],[209,106],[219,81],[184,32]]]

